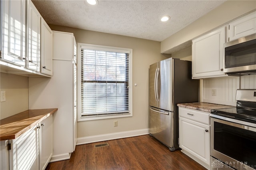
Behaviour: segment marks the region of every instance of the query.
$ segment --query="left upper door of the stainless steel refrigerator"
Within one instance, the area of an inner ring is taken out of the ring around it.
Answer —
[[[158,63],[154,63],[149,67],[149,105],[158,107],[156,96],[156,75],[158,72]]]

